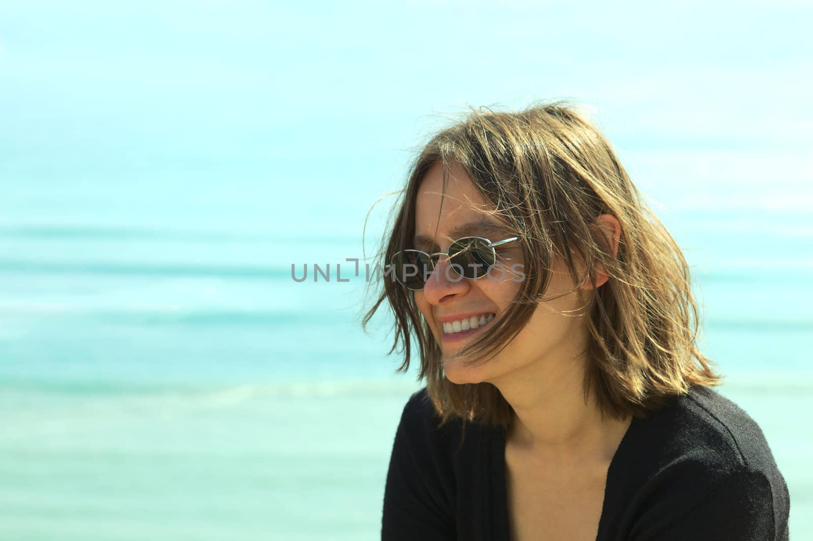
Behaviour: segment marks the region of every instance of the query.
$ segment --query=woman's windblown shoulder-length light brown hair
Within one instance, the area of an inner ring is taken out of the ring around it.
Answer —
[[[411,163],[394,223],[378,256],[384,263],[415,236],[415,201],[427,171],[443,167],[443,191],[455,162],[463,167],[493,214],[520,237],[525,279],[506,313],[480,333],[461,356],[488,361],[525,326],[550,282],[550,265],[561,258],[573,283],[583,283],[586,269],[593,289],[587,298],[574,290],[584,307],[589,336],[585,350],[585,400],[593,394],[603,414],[641,417],[683,394],[693,384],[718,385],[712,361],[699,352],[698,311],[691,275],[680,247],[641,194],[606,138],[568,102],[538,103],[520,112],[471,108],[465,119],[432,137]],[[611,214],[621,226],[615,256],[606,237],[593,225]],[[580,267],[577,262],[584,266]],[[593,271],[601,265],[609,277],[596,288]],[[383,265],[382,265],[383,266]],[[415,340],[420,352],[419,380],[441,424],[451,418],[476,420],[507,428],[511,405],[491,383],[455,384],[446,379],[441,349],[415,305],[413,292],[392,279],[380,280],[377,301],[363,327],[389,301],[398,348],[409,368]],[[399,347],[400,346],[400,347]]]

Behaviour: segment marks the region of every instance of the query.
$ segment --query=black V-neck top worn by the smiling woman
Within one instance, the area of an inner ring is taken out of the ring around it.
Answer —
[[[404,407],[382,541],[508,541],[505,431],[440,429],[426,387]],[[607,470],[597,541],[784,541],[789,494],[756,422],[708,387],[633,418]]]

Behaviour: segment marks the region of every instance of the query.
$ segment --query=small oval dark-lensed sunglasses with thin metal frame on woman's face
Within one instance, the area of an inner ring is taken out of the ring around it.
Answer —
[[[426,253],[423,250],[401,250],[393,255],[392,262],[385,266],[389,270],[394,268],[393,275],[398,283],[411,289],[420,291],[424,288],[426,280],[432,274],[441,256],[449,258],[450,267],[461,278],[476,280],[489,273],[491,267],[497,262],[496,246],[507,245],[520,237],[512,236],[510,239],[491,242],[481,236],[464,236],[449,245],[448,252]]]

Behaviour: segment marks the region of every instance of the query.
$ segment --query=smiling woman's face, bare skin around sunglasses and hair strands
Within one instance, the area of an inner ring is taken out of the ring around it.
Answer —
[[[515,236],[511,231],[495,232],[484,225],[460,230],[468,223],[498,222],[477,211],[478,208],[489,210],[493,207],[486,206],[463,167],[455,163],[450,170],[445,195],[442,174],[442,165],[437,162],[420,184],[415,208],[415,248],[430,253],[446,252],[450,243],[461,236],[484,236],[491,241]],[[454,231],[455,228],[458,230]],[[517,243],[498,247],[497,254],[498,262],[506,270],[522,263],[522,251]],[[496,272],[469,280],[460,279],[453,270],[447,269],[448,266],[448,259],[441,258],[424,289],[414,293],[415,303],[432,328],[445,358],[471,343],[480,333],[493,328],[494,321],[488,319],[501,318],[522,286],[517,276],[510,272],[504,277]],[[572,279],[560,259],[553,262],[551,271],[546,296],[572,289]],[[574,366],[572,361],[586,338],[584,320],[568,315],[568,311],[578,313],[578,307],[576,292],[540,303],[511,344],[489,362],[480,366],[466,366],[460,361],[445,362],[446,378],[452,383],[490,382],[498,385],[506,379],[524,379],[539,371],[551,370],[557,364]],[[467,327],[463,320],[468,320],[469,330],[454,332],[455,328]],[[472,323],[477,327],[471,328]]]

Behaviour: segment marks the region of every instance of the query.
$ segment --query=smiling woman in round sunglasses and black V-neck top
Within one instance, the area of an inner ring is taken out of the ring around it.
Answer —
[[[381,539],[788,539],[762,431],[711,389],[685,258],[575,108],[439,132],[383,256],[364,322],[389,303],[426,386]]]

